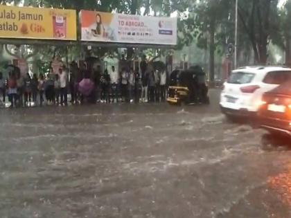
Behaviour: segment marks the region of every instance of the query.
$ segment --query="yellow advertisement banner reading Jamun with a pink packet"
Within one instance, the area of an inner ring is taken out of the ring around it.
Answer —
[[[76,10],[0,5],[0,37],[76,40]]]

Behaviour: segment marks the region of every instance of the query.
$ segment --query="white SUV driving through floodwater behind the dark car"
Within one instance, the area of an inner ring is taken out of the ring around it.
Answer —
[[[233,71],[220,96],[222,113],[249,116],[258,111],[263,93],[291,79],[291,69],[283,66],[245,66]]]

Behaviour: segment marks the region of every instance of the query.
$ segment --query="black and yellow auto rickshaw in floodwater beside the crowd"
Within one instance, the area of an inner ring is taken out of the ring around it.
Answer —
[[[200,66],[192,66],[187,70],[175,70],[170,74],[170,87],[167,101],[170,104],[209,105],[206,73]]]

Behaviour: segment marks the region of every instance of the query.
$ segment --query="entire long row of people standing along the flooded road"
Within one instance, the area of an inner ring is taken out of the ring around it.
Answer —
[[[72,104],[82,103],[85,98],[102,103],[166,100],[166,69],[154,69],[145,57],[135,68],[124,63],[119,66],[119,72],[115,66],[102,72],[100,65],[96,69],[87,69],[86,64],[79,67],[76,62],[71,62],[69,68],[62,66],[58,72],[51,68],[45,75],[21,75],[18,69],[10,71],[8,78],[4,78],[0,72],[0,96],[3,102],[8,96],[10,107],[43,105],[45,100],[46,105],[67,105],[68,94],[71,94]],[[80,90],[81,84],[87,94]]]

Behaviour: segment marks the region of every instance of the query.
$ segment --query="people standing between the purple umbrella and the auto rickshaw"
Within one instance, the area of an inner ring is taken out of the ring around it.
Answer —
[[[166,69],[162,67],[154,69],[152,64],[145,61],[145,58],[135,69],[129,64],[123,64],[120,68],[119,73],[112,66],[111,73],[105,69],[104,73],[100,74],[101,102],[161,102],[166,100],[168,84]],[[96,84],[98,83],[96,82]]]

